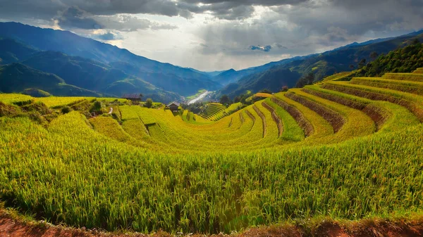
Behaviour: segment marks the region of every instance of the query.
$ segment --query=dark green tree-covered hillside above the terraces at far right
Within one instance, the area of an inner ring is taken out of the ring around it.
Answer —
[[[419,39],[415,39],[412,44],[402,49],[382,54],[367,65],[360,62],[361,70],[355,76],[379,77],[386,72],[413,72],[417,68],[423,68],[423,45]]]

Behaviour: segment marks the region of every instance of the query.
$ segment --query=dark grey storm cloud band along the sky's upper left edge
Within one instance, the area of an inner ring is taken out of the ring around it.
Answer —
[[[77,6],[81,11],[92,15],[146,13],[191,18],[194,13],[207,12],[216,18],[238,20],[250,17],[253,12],[252,6],[298,5],[307,1],[309,0],[51,0],[48,2],[46,0],[0,0],[0,15],[4,18],[26,17],[49,20],[56,18],[58,12]],[[76,20],[75,23],[86,27],[81,20]]]

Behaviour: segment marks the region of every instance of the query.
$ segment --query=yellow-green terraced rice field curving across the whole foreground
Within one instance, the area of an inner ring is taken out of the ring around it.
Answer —
[[[144,233],[421,217],[422,78],[326,80],[216,122],[220,104],[202,119],[136,105],[116,105],[119,120],[0,117],[0,200],[53,223]],[[0,110],[27,99],[0,95]]]

